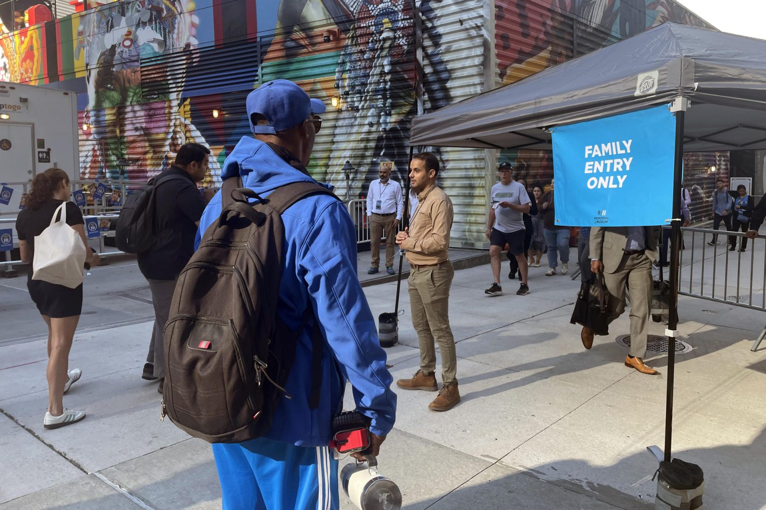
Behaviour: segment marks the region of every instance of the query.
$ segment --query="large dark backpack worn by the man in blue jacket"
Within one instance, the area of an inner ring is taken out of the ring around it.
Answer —
[[[165,324],[162,417],[209,443],[240,443],[268,432],[295,357],[296,339],[313,322],[312,395],[319,405],[322,336],[309,305],[289,330],[277,317],[282,277],[281,214],[309,195],[332,193],[313,182],[286,184],[261,199],[224,181],[221,216],[178,276]],[[332,195],[334,197],[334,195]],[[247,197],[259,203],[247,202]]]

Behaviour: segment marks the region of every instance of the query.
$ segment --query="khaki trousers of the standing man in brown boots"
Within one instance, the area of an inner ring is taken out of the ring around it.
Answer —
[[[441,379],[457,382],[455,338],[450,329],[450,285],[455,270],[450,261],[412,268],[408,278],[412,326],[421,349],[421,370],[436,371],[436,348],[441,352]]]

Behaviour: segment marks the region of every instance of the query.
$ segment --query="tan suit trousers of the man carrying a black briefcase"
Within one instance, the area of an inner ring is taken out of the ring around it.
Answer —
[[[617,271],[604,272],[604,283],[611,294],[610,322],[625,311],[625,284],[630,287],[630,356],[643,358],[647,354],[652,304],[652,261],[643,253],[623,255]]]

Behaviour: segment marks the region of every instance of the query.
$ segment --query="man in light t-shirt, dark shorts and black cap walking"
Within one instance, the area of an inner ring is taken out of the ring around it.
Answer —
[[[495,278],[491,287],[484,291],[490,296],[502,294],[500,286],[500,252],[508,244],[508,252],[519,262],[519,273],[522,284],[516,294],[529,294],[527,273],[529,264],[524,256],[524,213],[529,213],[532,203],[522,184],[513,180],[513,167],[504,161],[497,168],[500,182],[492,187],[489,201],[489,219],[486,226],[486,237],[489,239],[489,261],[492,265],[492,275]]]

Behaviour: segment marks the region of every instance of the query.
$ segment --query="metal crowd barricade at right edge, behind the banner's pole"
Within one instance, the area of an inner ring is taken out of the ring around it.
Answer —
[[[696,227],[681,231],[686,234],[686,246],[680,255],[679,294],[766,311],[766,236],[748,239],[746,251],[740,252],[745,232]],[[710,245],[713,236],[718,243]],[[734,251],[729,250],[730,236],[735,240]],[[766,326],[751,350],[758,349],[764,337]]]

